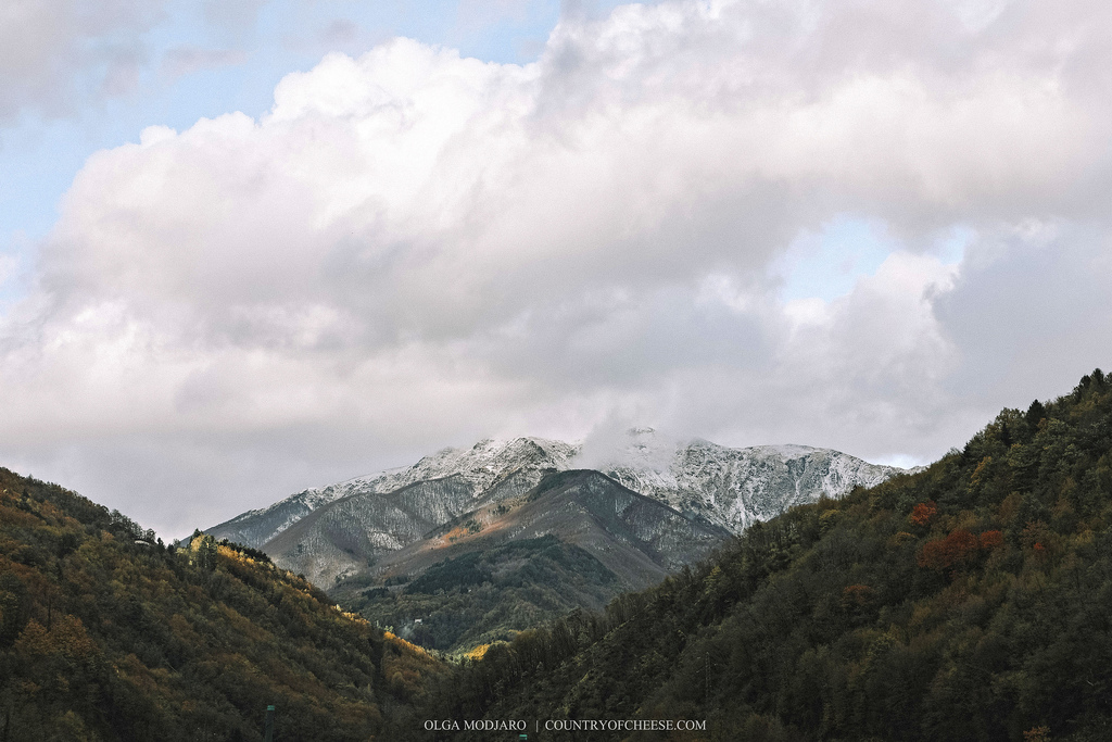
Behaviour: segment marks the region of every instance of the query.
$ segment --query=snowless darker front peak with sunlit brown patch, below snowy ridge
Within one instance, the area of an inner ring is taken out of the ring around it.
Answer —
[[[598,472],[554,473],[522,498],[384,555],[370,590],[351,578],[332,594],[423,646],[459,652],[577,607],[602,609],[728,536]]]

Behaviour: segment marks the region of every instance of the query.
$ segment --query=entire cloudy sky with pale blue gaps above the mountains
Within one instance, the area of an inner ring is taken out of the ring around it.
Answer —
[[[1112,367],[1112,6],[6,0],[0,464],[168,537],[484,437],[914,465]]]

